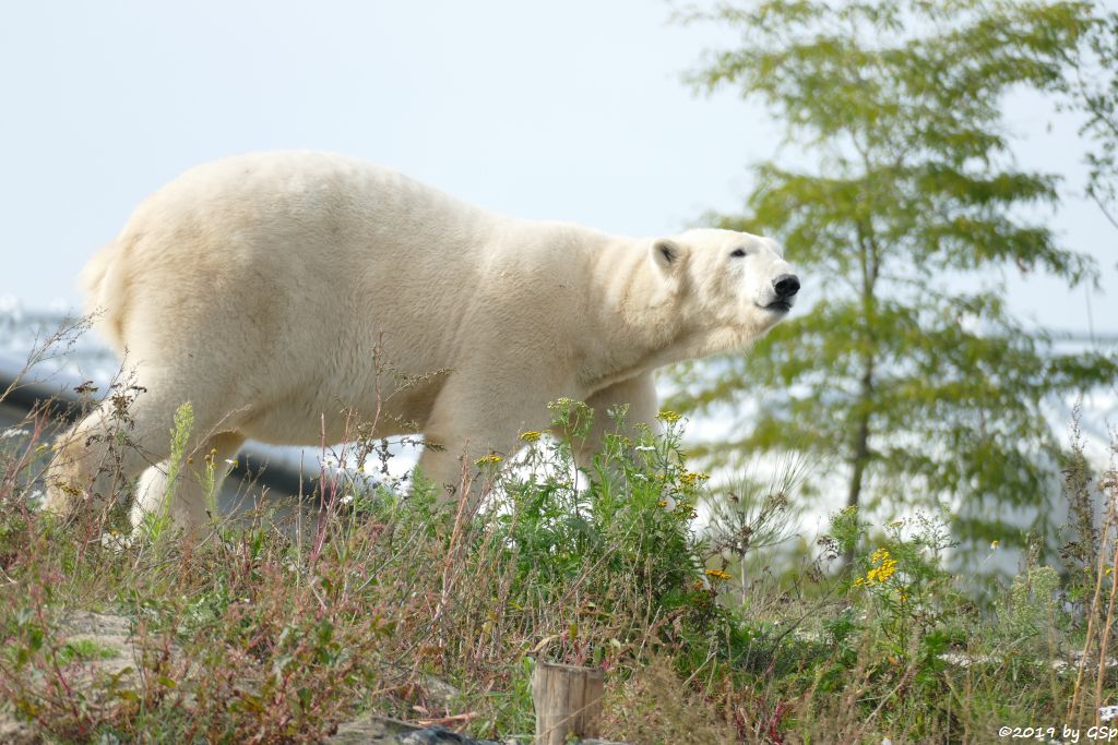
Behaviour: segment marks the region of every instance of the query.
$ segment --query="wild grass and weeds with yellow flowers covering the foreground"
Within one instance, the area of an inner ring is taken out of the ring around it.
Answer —
[[[548,659],[601,667],[603,734],[634,743],[1106,726],[1118,478],[1074,443],[1071,548],[1059,565],[1034,553],[979,601],[946,569],[939,515],[873,526],[844,510],[798,569],[765,571],[795,479],[711,489],[665,412],[662,436],[607,438],[577,488],[570,442],[589,412],[560,401],[552,416],[558,439],[525,432],[512,462],[484,459],[483,514],[439,508],[421,479],[404,493],[343,475],[301,531],[255,514],[200,544],[105,539],[123,506],[70,524],[37,512],[49,445],[29,420],[0,439],[0,707],[66,743],[318,742],[362,713],[527,741]],[[127,666],[97,667],[120,652],[75,639],[76,610],[129,620]]]

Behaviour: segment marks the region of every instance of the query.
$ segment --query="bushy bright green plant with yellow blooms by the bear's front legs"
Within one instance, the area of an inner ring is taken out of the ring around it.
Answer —
[[[501,480],[492,537],[515,562],[512,592],[544,604],[561,602],[577,582],[586,596],[613,598],[614,609],[631,602],[634,610],[672,619],[689,642],[717,633],[724,619],[713,602],[693,526],[707,477],[682,465],[679,416],[661,414],[665,432],[659,437],[647,428],[636,439],[606,434],[589,481],[578,488],[575,478],[549,474],[575,474],[571,445],[585,437],[594,412],[569,400],[552,411],[551,429],[563,437],[531,439],[518,461],[522,468]],[[624,412],[614,416],[620,427]],[[579,612],[593,617],[600,609],[591,603]],[[593,649],[579,634],[579,623],[572,621],[557,640],[562,661],[600,663],[632,644],[639,628],[619,623],[615,615],[609,647]]]

